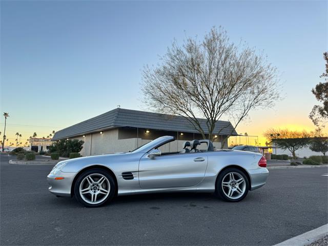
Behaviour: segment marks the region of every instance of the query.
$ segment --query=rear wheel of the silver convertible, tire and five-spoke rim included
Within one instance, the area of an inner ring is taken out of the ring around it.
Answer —
[[[249,188],[247,176],[236,168],[224,170],[216,181],[216,193],[226,201],[241,201],[247,195]]]

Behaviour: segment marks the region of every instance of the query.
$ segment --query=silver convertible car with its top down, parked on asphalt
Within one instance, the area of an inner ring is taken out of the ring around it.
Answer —
[[[49,191],[75,196],[87,207],[116,195],[176,191],[211,192],[234,202],[268,178],[267,160],[259,153],[215,150],[210,140],[186,141],[179,152],[161,153],[174,140],[163,136],[131,152],[60,161],[47,176]]]

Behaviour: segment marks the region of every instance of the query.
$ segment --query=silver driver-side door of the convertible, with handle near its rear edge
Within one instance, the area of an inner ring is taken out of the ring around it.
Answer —
[[[139,161],[141,188],[170,188],[197,185],[204,177],[208,163],[205,153],[181,153],[148,157]]]

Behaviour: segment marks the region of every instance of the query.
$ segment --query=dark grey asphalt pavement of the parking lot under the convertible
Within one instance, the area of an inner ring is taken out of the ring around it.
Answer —
[[[90,209],[48,192],[51,166],[0,158],[1,245],[273,245],[328,222],[328,168],[270,170],[237,203],[168,193]]]

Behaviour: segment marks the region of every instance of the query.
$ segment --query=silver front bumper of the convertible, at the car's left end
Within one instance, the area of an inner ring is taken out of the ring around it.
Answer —
[[[71,187],[75,173],[56,172],[54,175],[49,174],[47,180],[49,183],[48,190],[57,196],[71,196]],[[56,180],[56,177],[63,177],[64,179]]]

